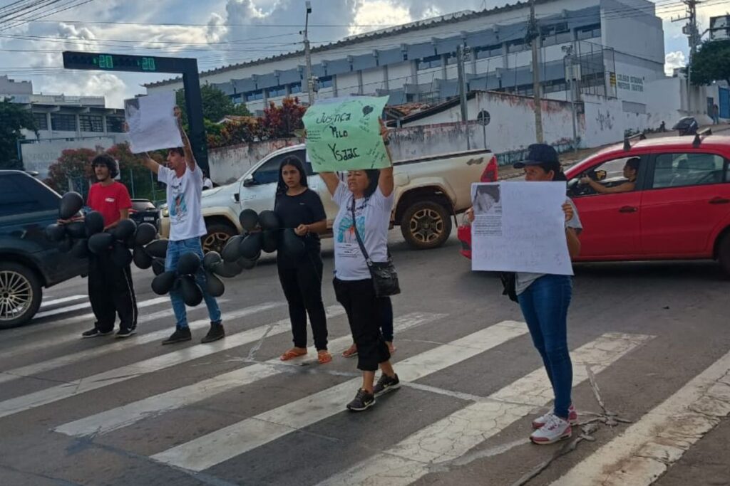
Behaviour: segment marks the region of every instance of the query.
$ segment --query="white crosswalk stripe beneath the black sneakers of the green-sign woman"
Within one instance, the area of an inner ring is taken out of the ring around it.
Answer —
[[[526,332],[524,324],[504,321],[399,361],[396,363],[396,371],[401,381],[418,380],[477,356]],[[347,380],[345,383],[193,439],[191,442],[159,452],[152,458],[192,471],[208,469],[299,428],[310,426],[342,412],[346,397],[350,397],[360,384],[361,378]]]

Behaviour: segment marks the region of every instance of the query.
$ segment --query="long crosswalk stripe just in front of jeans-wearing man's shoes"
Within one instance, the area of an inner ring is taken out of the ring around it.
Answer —
[[[276,302],[276,306],[283,305]],[[243,315],[248,315],[250,311],[247,309],[237,310],[223,314],[223,321],[228,321]],[[121,383],[131,380],[148,373],[158,372],[161,369],[173,367],[183,364],[193,359],[202,358],[211,354],[219,353],[231,348],[237,348],[241,345],[247,345],[256,342],[266,335],[281,334],[290,329],[291,326],[280,326],[280,328],[271,329],[270,325],[258,326],[254,329],[242,331],[237,334],[226,336],[226,339],[209,342],[206,344],[193,345],[189,348],[173,351],[153,358],[147,358],[137,363],[128,364],[123,367],[110,369],[107,372],[98,373],[90,377],[73,380],[69,383],[63,383],[51,388],[45,388],[34,393],[18,396],[14,399],[0,401],[0,418],[14,415],[18,412],[24,412],[36,407],[42,407],[58,400],[67,399],[71,396],[77,396],[87,391],[98,390],[115,383]]]

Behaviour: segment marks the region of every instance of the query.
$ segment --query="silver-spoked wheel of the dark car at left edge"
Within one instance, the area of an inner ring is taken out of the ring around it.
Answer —
[[[0,263],[0,329],[26,324],[38,312],[43,289],[33,270]]]

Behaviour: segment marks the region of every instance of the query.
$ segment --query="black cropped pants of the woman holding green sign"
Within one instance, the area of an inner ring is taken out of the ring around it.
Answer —
[[[358,347],[358,369],[377,371],[377,365],[388,361],[388,345],[380,333],[382,309],[379,307],[372,280],[342,281],[334,279],[337,302],[345,307],[350,332]]]

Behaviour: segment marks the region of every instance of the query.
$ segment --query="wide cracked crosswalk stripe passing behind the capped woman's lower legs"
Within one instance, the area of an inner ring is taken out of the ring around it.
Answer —
[[[588,379],[585,366],[601,372],[652,337],[642,334],[603,334],[572,351],[573,386]],[[534,370],[514,383],[421,428],[385,452],[335,474],[320,483],[330,485],[410,485],[434,465],[461,457],[472,447],[499,434],[535,407],[545,406],[553,389],[545,370]],[[596,484],[583,481],[581,484]],[[631,483],[623,483],[631,484]]]

